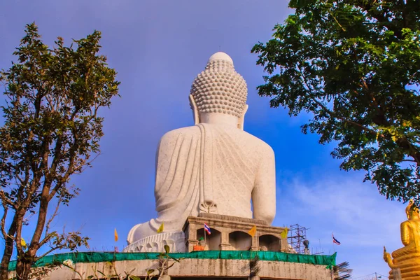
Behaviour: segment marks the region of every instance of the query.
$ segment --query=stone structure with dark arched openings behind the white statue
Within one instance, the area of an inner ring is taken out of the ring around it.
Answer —
[[[204,223],[211,229],[211,235],[204,235]],[[256,225],[254,237],[248,231]],[[183,228],[188,252],[205,237],[207,249],[211,251],[282,251],[288,252],[287,238],[281,238],[284,228],[272,227],[265,221],[200,213],[198,217],[188,217]]]

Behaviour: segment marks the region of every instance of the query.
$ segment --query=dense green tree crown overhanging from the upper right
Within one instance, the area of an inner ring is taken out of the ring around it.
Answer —
[[[420,1],[292,0],[273,38],[254,45],[258,86],[302,132],[337,144],[340,168],[365,171],[387,199],[420,202]]]

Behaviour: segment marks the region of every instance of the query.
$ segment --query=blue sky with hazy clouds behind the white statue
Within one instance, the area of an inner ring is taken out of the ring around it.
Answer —
[[[118,71],[121,98],[103,112],[102,154],[94,167],[73,178],[82,189],[59,211],[55,228],[81,230],[91,248],[113,248],[117,228],[123,248],[133,225],[155,216],[155,149],[169,130],[193,125],[188,94],[193,79],[218,50],[232,57],[248,83],[245,130],[266,141],[276,154],[277,214],[274,225],[309,228],[311,248],[337,251],[353,276],[388,274],[382,249],[400,244],[405,205],[386,201],[363,174],[339,170],[333,144],[321,146],[300,132],[310,116],[290,118],[259,97],[263,71],[250,50],[292,10],[288,1],[1,1],[0,68],[16,60],[12,52],[25,25],[36,22],[45,43],[67,43],[94,29],[102,31],[102,53]],[[3,98],[0,104],[4,104]],[[332,246],[331,232],[342,245]],[[28,229],[24,237],[31,236]],[[320,246],[321,244],[321,246]],[[3,244],[0,244],[0,249]],[[321,248],[320,248],[321,247]]]

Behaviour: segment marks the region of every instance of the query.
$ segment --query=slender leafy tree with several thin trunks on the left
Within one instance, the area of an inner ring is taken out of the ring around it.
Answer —
[[[99,153],[104,120],[99,109],[111,105],[120,84],[106,57],[98,54],[99,31],[69,47],[58,37],[52,49],[41,41],[34,23],[25,33],[13,52],[18,63],[0,72],[7,99],[0,128],[1,234],[6,244],[0,279],[7,279],[13,246],[18,279],[27,279],[31,265],[43,255],[87,245],[88,238],[79,232],[51,231],[50,223],[58,207],[78,195],[69,181]],[[35,230],[26,243],[22,229],[31,218]],[[38,256],[45,245],[50,248]]]

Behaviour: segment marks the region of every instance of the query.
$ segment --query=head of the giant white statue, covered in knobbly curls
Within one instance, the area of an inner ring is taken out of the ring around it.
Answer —
[[[217,123],[235,123],[243,129],[247,94],[246,82],[235,71],[230,56],[216,52],[191,86],[190,106],[195,124],[216,120]]]

